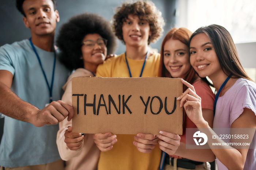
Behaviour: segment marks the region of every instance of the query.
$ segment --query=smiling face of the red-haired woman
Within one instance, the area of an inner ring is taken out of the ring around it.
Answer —
[[[174,78],[185,78],[191,65],[188,46],[177,39],[169,39],[163,46],[163,64]]]

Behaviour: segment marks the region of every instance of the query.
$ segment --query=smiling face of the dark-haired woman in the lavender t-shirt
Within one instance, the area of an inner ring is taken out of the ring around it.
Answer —
[[[200,77],[217,76],[222,72],[211,40],[204,33],[195,35],[190,42],[190,62]]]

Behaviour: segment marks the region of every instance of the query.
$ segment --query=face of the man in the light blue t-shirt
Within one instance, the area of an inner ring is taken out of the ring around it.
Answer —
[[[32,36],[54,34],[60,18],[58,11],[54,11],[52,0],[25,0],[23,11],[26,14],[23,22],[30,28]]]

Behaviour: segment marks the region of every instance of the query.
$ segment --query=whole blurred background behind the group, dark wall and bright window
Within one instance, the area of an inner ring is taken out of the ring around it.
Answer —
[[[60,26],[83,12],[98,13],[111,20],[116,7],[132,0],[57,0]],[[186,27],[192,32],[202,26],[224,26],[236,43],[242,66],[256,80],[256,1],[255,0],[152,0],[165,20],[163,36],[150,46],[159,51],[164,35],[173,27]],[[15,7],[15,0],[0,0],[0,46],[30,37],[30,31]],[[118,40],[116,54],[125,51]]]

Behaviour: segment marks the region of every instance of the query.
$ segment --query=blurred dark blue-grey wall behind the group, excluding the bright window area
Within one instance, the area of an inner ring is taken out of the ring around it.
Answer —
[[[165,20],[165,32],[167,34],[171,26],[176,23],[175,11],[176,0],[152,0],[156,7],[162,12]],[[15,7],[15,0],[0,0],[0,46],[5,43],[12,43],[22,39],[29,38],[30,30],[27,29],[22,20],[22,14]],[[83,12],[98,13],[107,20],[111,20],[116,7],[120,6],[122,0],[57,0],[57,10],[60,14],[60,22],[57,24],[56,35],[60,26],[67,22],[69,18]],[[129,1],[128,1],[129,2]],[[151,47],[160,49],[161,39],[156,43],[152,43]],[[118,41],[116,54],[121,54],[125,51],[125,46],[121,41]]]

